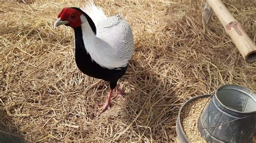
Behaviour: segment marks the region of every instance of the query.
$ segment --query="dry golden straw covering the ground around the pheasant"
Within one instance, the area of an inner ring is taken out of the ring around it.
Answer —
[[[53,29],[62,8],[85,2],[1,2],[2,132],[27,141],[177,141],[187,99],[227,83],[256,91],[255,63],[241,58],[215,16],[210,28],[202,24],[203,0],[95,3],[133,30],[134,55],[119,81],[125,102],[98,115],[108,84],[97,87],[100,80],[77,69],[72,29]],[[254,0],[225,4],[255,42]]]

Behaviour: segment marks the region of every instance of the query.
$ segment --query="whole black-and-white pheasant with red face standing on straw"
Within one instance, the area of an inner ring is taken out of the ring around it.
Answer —
[[[107,17],[104,11],[90,0],[84,8],[63,8],[54,27],[70,26],[75,33],[75,61],[78,69],[87,76],[102,79],[110,84],[106,102],[99,113],[111,108],[111,98],[122,97],[117,82],[126,73],[134,51],[130,24],[120,15]],[[113,96],[116,89],[117,95]]]

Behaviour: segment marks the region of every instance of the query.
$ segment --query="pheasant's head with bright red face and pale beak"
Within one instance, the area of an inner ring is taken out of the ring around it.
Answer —
[[[54,27],[59,25],[66,25],[72,28],[79,27],[82,22],[80,16],[82,13],[78,8],[64,8],[59,12],[58,19],[56,20]]]

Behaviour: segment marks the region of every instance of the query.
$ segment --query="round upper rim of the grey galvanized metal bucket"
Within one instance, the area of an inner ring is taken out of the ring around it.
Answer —
[[[222,106],[224,106],[225,109],[230,110],[230,111],[232,111],[232,112],[241,113],[241,114],[256,113],[256,110],[255,110],[255,111],[251,111],[251,112],[242,112],[242,111],[234,110],[234,109],[229,108],[228,106],[225,106],[222,102],[220,102],[220,100],[219,100],[219,98],[218,98],[218,96],[217,96],[217,92],[218,92],[219,90],[225,88],[225,87],[228,87],[228,86],[240,87],[240,88],[243,88],[243,89],[246,89],[246,90],[250,91],[253,95],[255,95],[254,92],[252,92],[252,90],[250,90],[250,89],[248,89],[248,88],[246,88],[246,87],[242,87],[241,85],[238,85],[238,84],[225,84],[225,85],[221,85],[221,86],[220,86],[219,88],[217,88],[217,90],[214,92],[214,96],[215,96],[215,98],[217,99],[217,101],[218,101]],[[249,95],[248,95],[248,96],[249,96]],[[255,96],[256,96],[256,95],[255,95]],[[249,96],[249,97],[251,97],[251,96]],[[252,98],[252,97],[251,97],[251,98]],[[252,98],[252,99],[253,99],[253,98]],[[254,102],[255,102],[255,99],[253,99],[253,100],[254,100]]]

